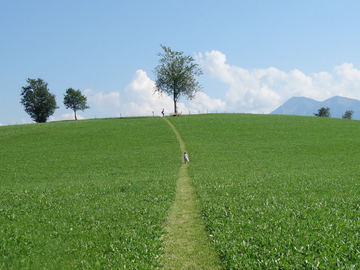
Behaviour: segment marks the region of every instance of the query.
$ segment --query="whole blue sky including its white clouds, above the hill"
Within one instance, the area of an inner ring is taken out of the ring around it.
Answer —
[[[42,78],[75,119],[68,87],[87,96],[80,119],[160,116],[152,95],[159,44],[201,65],[203,92],[179,110],[270,113],[292,96],[360,99],[359,1],[0,1],[0,125],[33,122],[19,103]]]

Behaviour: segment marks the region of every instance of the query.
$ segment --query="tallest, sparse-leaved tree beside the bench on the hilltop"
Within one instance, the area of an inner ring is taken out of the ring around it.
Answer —
[[[172,51],[170,47],[160,46],[164,53],[157,54],[161,59],[153,71],[156,75],[154,93],[173,96],[174,111],[177,112],[176,103],[181,96],[192,100],[195,93],[201,91],[202,87],[195,76],[200,76],[203,72],[199,65],[194,63],[195,59],[184,56],[183,51]]]

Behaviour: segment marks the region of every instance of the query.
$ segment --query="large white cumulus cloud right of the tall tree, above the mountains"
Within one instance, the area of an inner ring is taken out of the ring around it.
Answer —
[[[226,64],[220,51],[199,53],[197,60],[210,76],[227,85],[226,110],[235,112],[270,113],[293,96],[323,101],[334,95],[360,99],[360,71],[352,64],[335,66],[328,72],[305,75],[275,67],[245,69]]]

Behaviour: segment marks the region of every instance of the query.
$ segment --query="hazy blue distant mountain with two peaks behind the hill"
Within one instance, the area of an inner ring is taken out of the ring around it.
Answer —
[[[333,96],[324,101],[316,101],[303,96],[293,96],[270,114],[291,114],[301,116],[314,116],[321,107],[329,107],[331,117],[342,118],[345,111],[354,111],[352,119],[360,120],[360,100]]]

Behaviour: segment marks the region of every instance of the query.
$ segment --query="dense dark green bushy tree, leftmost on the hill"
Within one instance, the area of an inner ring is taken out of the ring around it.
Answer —
[[[56,96],[49,92],[48,83],[41,78],[37,80],[28,78],[26,82],[28,85],[22,87],[20,103],[32,120],[36,123],[45,123],[59,108],[56,104]]]

